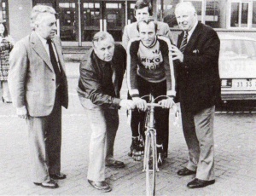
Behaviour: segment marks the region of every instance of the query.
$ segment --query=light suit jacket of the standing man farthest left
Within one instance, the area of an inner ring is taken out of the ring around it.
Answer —
[[[56,53],[61,66],[61,106],[68,105],[67,76],[65,72],[61,41],[53,38]],[[30,116],[48,116],[55,103],[55,72],[36,32],[15,43],[10,53],[9,90],[15,107],[24,107]]]

